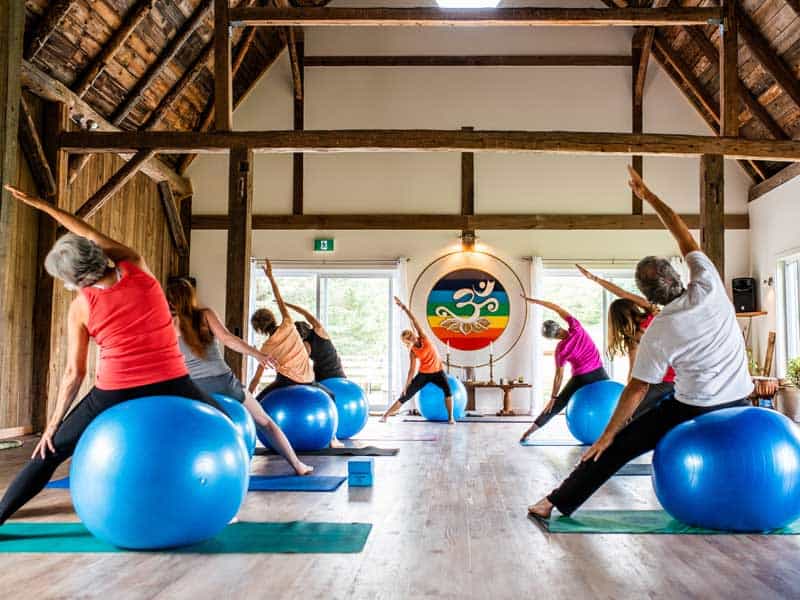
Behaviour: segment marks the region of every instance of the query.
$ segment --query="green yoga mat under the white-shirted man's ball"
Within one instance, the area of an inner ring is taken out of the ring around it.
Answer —
[[[550,533],[652,533],[671,535],[740,535],[701,529],[676,521],[663,510],[581,510],[571,517],[548,520],[531,517]],[[800,535],[800,520],[763,535]]]

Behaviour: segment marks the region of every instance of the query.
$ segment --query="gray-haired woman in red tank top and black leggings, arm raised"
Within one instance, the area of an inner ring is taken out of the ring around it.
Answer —
[[[107,408],[135,398],[169,395],[219,409],[189,378],[167,300],[144,259],[75,215],[11,186],[6,189],[70,232],[56,241],[45,268],[80,293],[69,307],[67,368],[55,411],[31,460],[0,500],[0,524],[42,490],[56,468],[72,456],[83,431]],[[90,339],[100,349],[95,387],[67,415],[86,376]]]

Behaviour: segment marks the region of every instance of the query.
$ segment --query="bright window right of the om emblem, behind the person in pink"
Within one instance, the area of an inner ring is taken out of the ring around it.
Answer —
[[[639,293],[630,269],[591,269],[593,273],[607,279],[623,289]],[[545,269],[542,298],[555,302],[568,310],[578,319],[594,340],[603,357],[603,365],[609,376],[619,382],[628,379],[628,357],[617,356],[609,360],[606,356],[606,340],[608,339],[608,305],[616,297],[596,283],[583,277],[575,269]],[[544,319],[560,321],[557,315],[545,311]],[[555,377],[555,353],[557,340],[543,340],[544,356],[542,357],[541,398],[546,402],[552,392]],[[569,371],[569,368],[567,368]],[[568,377],[569,373],[565,373]]]

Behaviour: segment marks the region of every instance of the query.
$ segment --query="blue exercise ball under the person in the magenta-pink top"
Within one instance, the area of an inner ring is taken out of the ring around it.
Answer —
[[[616,381],[596,381],[579,389],[567,404],[567,427],[584,444],[594,444],[605,431],[625,388]]]

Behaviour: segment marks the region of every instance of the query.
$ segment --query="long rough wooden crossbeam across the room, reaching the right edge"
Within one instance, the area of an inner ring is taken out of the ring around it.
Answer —
[[[459,131],[359,129],[323,131],[73,131],[60,138],[71,153],[158,152],[227,153],[252,148],[270,154],[330,152],[532,152],[800,160],[800,141],[751,140],[702,135],[577,131]]]

